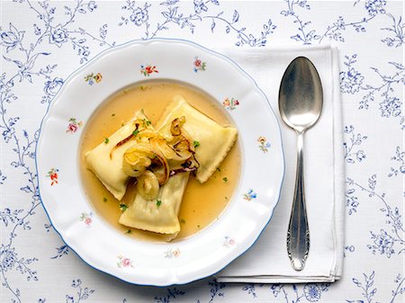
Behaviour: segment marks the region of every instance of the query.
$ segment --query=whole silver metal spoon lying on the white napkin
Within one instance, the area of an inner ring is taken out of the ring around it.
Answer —
[[[304,191],[303,138],[305,131],[320,118],[322,104],[322,85],[317,69],[308,58],[293,59],[284,72],[278,106],[284,123],[297,133],[297,172],[287,232],[287,252],[296,271],[302,271],[310,251],[310,229]]]

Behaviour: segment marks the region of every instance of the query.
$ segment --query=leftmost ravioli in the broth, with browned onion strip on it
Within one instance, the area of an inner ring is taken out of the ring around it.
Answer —
[[[143,111],[138,111],[135,117],[121,129],[115,131],[109,138],[100,143],[93,150],[85,154],[87,168],[90,169],[112,193],[115,199],[121,201],[124,196],[130,176],[122,170],[122,156],[125,150],[133,145],[128,139],[135,129],[154,130]],[[127,141],[125,141],[128,139]]]

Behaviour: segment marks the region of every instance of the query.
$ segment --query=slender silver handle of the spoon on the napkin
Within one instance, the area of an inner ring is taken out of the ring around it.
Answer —
[[[304,176],[303,176],[303,131],[297,137],[297,173],[291,211],[290,224],[287,232],[287,252],[293,269],[302,271],[310,251],[310,229],[308,227],[305,208]]]

